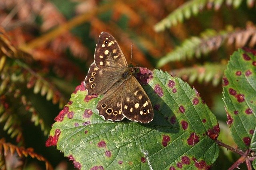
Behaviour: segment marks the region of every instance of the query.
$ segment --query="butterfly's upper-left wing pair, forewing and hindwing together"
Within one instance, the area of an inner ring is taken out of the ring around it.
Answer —
[[[94,52],[94,63],[84,79],[88,94],[105,94],[122,84],[122,74],[128,67],[118,43],[109,33],[102,32]]]

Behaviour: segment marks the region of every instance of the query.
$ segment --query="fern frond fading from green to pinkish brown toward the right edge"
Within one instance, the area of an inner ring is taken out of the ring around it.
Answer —
[[[212,29],[204,31],[200,37],[191,37],[182,42],[182,45],[176,47],[174,51],[162,57],[157,67],[171,61],[182,61],[186,58],[199,58],[202,54],[206,55],[209,52],[218,49],[223,43],[231,45],[235,43],[236,48],[243,47],[248,44],[253,47],[256,44],[256,27],[248,24],[244,30],[223,30],[216,32]]]

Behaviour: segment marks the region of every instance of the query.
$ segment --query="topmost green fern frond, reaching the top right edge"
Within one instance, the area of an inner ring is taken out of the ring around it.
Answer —
[[[202,11],[204,8],[219,10],[222,6],[224,0],[190,0],[176,10],[169,14],[166,18],[158,22],[154,29],[157,32],[164,31],[166,28],[177,25],[184,19],[190,18],[192,15],[196,16],[198,12]],[[227,6],[233,6],[238,8],[241,5],[242,0],[226,0]],[[255,0],[247,0],[247,6],[252,8]]]

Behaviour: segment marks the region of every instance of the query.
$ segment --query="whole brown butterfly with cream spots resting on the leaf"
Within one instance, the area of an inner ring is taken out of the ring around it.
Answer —
[[[88,94],[104,94],[97,109],[105,120],[149,123],[154,112],[148,95],[134,77],[136,67],[129,67],[118,43],[102,32],[84,80]]]

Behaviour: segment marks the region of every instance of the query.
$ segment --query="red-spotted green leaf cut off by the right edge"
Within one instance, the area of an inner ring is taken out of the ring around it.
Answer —
[[[241,149],[256,151],[256,56],[246,51],[239,49],[230,57],[223,96],[234,141]]]

